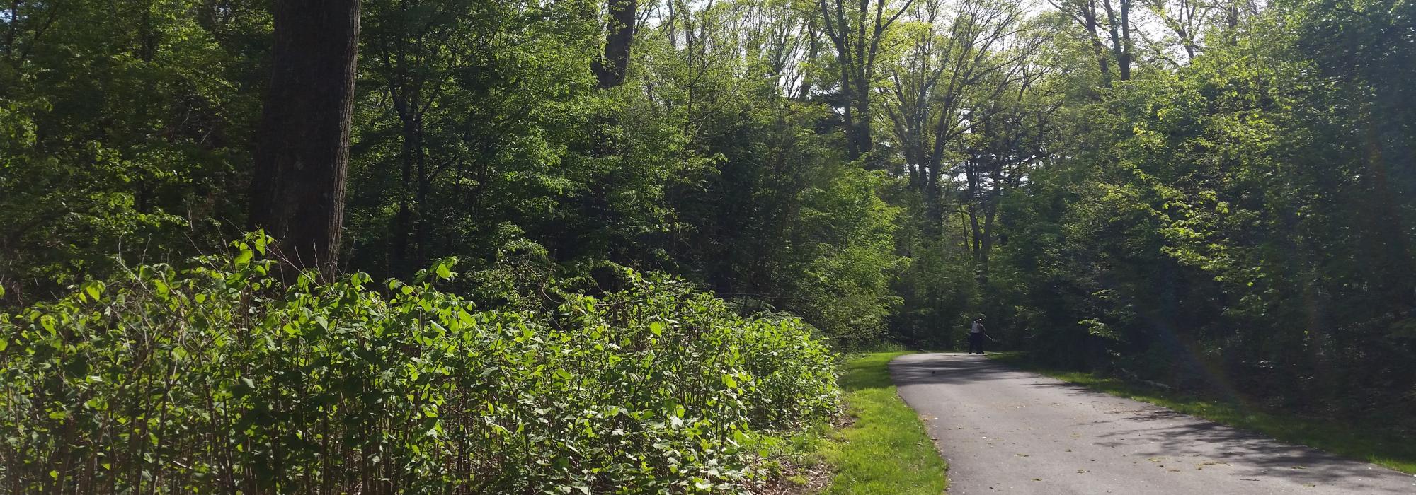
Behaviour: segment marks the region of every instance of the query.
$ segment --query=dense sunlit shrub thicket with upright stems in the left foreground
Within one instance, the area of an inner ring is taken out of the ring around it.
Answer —
[[[0,315],[0,491],[739,491],[755,431],[835,407],[809,327],[670,277],[477,311],[450,259],[283,284],[234,246]]]

